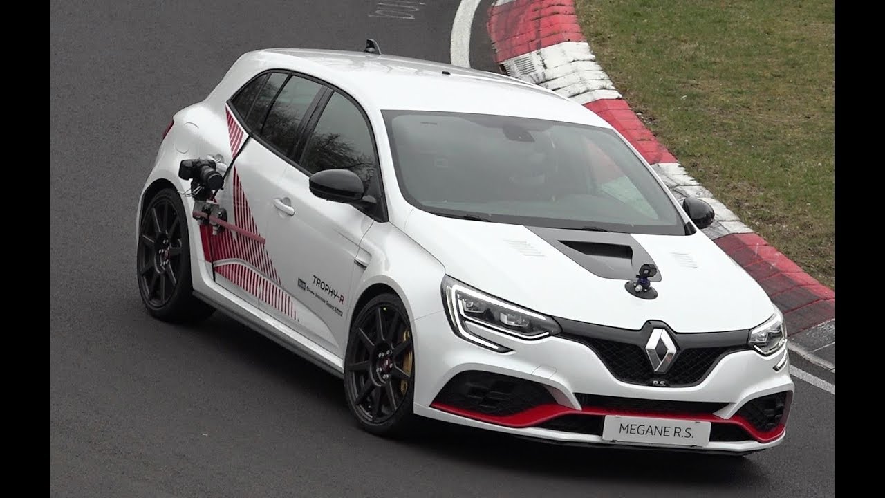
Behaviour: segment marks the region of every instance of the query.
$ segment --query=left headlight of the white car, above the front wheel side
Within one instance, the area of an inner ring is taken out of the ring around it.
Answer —
[[[443,301],[452,329],[458,336],[500,353],[510,349],[481,338],[473,331],[496,331],[526,340],[559,332],[558,323],[550,316],[493,298],[450,276],[443,278]]]

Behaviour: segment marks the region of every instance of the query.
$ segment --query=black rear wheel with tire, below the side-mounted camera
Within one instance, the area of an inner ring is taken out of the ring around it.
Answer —
[[[142,304],[169,323],[196,323],[214,308],[196,299],[190,276],[188,214],[173,189],[150,199],[138,225],[136,276]]]

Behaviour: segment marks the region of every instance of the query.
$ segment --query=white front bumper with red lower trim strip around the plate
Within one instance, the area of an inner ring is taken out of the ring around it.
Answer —
[[[751,350],[727,354],[696,385],[654,387],[620,381],[589,346],[567,338],[528,342],[496,334],[496,343],[512,349],[499,354],[458,338],[442,312],[419,318],[413,326],[414,411],[420,416],[529,438],[603,445],[612,444],[602,437],[604,416],[702,420],[712,423],[711,440],[692,449],[738,453],[776,446],[786,434],[794,390],[789,364],[783,363],[786,348],[768,357]],[[501,378],[527,387],[514,391],[520,401],[504,410],[453,402],[452,385],[479,378],[471,372],[506,376]],[[545,392],[533,391],[532,385]],[[760,410],[775,405],[778,423],[761,424]]]

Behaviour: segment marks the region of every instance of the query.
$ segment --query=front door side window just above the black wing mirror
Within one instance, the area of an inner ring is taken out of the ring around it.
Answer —
[[[366,119],[356,105],[336,92],[304,147],[301,166],[311,173],[350,169],[363,180],[366,191],[377,196],[379,185],[373,181],[377,163]]]

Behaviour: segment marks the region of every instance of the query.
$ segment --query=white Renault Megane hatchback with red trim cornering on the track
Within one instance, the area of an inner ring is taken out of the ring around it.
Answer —
[[[549,90],[373,43],[253,51],[174,115],[137,211],[151,315],[235,316],[343,377],[367,431],[784,438],[781,313],[710,206]]]

